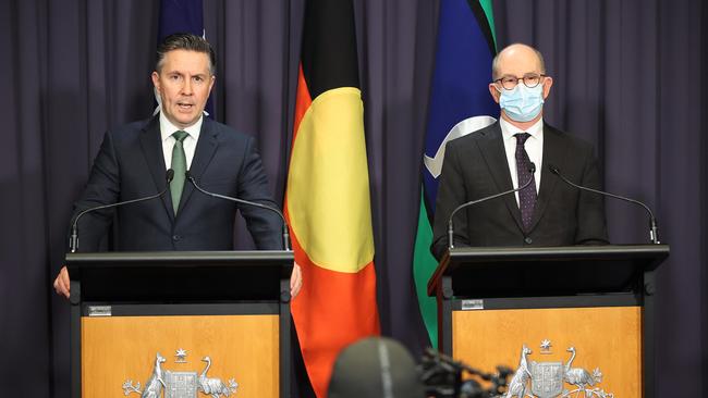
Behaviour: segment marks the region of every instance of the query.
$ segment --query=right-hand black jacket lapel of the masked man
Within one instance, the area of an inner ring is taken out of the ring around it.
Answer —
[[[567,142],[557,129],[544,124],[544,164],[541,166],[541,186],[538,190],[538,199],[534,208],[534,216],[529,226],[529,232],[534,231],[538,221],[544,216],[550,198],[558,183],[558,176],[548,170],[549,164],[553,164],[563,170],[565,161]]]

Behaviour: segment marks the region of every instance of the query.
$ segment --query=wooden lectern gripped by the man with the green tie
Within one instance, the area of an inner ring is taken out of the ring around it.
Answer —
[[[290,397],[290,251],[70,253],[72,397]]]

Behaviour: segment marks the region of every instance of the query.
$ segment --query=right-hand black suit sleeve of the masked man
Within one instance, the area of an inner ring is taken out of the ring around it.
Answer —
[[[581,185],[601,189],[600,172],[593,147],[588,146],[585,157],[585,167]],[[577,203],[576,245],[608,245],[607,224],[605,216],[605,197],[598,194],[581,190]]]

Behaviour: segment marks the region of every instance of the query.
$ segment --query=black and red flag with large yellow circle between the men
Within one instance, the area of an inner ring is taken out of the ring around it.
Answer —
[[[325,398],[339,351],[380,333],[352,0],[306,3],[294,122],[284,208],[303,288],[292,314]]]

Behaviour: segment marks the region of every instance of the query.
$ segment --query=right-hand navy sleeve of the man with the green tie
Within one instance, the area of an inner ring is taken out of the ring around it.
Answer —
[[[248,137],[244,153],[244,162],[239,172],[239,198],[278,208],[272,200],[268,187],[268,177],[264,170],[260,156],[256,149],[256,140]],[[282,220],[272,211],[253,206],[239,206],[241,214],[246,220],[246,226],[259,250],[282,250]]]

